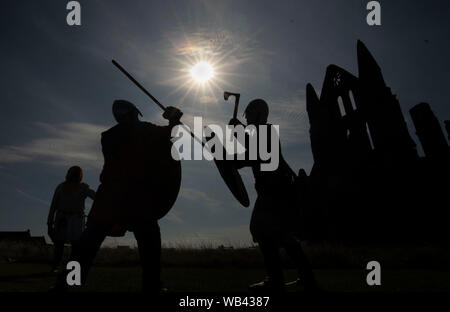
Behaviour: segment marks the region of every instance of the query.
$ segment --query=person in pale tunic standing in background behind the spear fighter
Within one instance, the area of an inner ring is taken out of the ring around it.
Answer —
[[[95,191],[81,183],[83,171],[78,166],[70,167],[66,180],[56,187],[47,218],[48,236],[53,241],[55,253],[52,270],[56,272],[64,253],[64,243],[76,248],[85,227],[84,201],[95,198]]]

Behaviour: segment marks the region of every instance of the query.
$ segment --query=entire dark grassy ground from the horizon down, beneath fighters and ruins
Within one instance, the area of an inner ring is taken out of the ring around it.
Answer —
[[[449,248],[436,246],[357,247],[306,245],[317,280],[330,292],[450,291]],[[66,251],[66,257],[68,250]],[[0,245],[0,291],[46,292],[56,276],[50,273],[52,248]],[[282,253],[285,278],[296,278],[293,264]],[[381,286],[366,283],[366,264],[381,263]],[[162,279],[173,292],[246,292],[265,276],[256,248],[165,248]],[[136,249],[104,248],[99,252],[80,292],[137,292],[141,269]],[[302,291],[300,287],[288,291]]]

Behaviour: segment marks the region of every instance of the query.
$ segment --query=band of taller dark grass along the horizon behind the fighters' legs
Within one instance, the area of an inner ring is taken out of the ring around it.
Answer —
[[[343,243],[305,244],[314,268],[361,268],[369,261],[383,263],[383,268],[447,269],[450,246],[443,244],[416,245],[349,245]],[[51,245],[0,243],[0,263],[50,263]],[[65,252],[67,259],[69,248]],[[432,255],[432,256],[431,256]],[[294,268],[282,253],[286,268]],[[100,266],[137,266],[137,248],[101,248],[95,260]],[[196,268],[263,268],[263,259],[256,248],[163,248],[163,267]],[[50,268],[50,265],[49,265]]]

